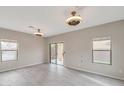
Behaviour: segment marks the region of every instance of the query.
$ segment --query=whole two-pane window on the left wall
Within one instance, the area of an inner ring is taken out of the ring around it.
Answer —
[[[18,55],[17,41],[1,40],[0,48],[1,48],[0,53],[1,53],[2,62],[17,60],[17,55]]]

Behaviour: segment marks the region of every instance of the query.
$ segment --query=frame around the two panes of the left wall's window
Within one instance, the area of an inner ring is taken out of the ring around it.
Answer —
[[[1,42],[12,42],[12,43],[16,43],[17,44],[17,49],[4,49],[4,50],[2,50],[1,49]],[[16,51],[16,60],[7,60],[7,61],[3,61],[2,60],[2,52],[3,51]],[[0,39],[0,62],[12,62],[12,61],[14,61],[14,62],[16,62],[16,61],[18,61],[18,42],[17,42],[17,40],[8,40],[8,39]]]

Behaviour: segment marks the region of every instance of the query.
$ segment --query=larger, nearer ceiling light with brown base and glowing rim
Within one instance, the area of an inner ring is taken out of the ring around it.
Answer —
[[[66,20],[66,23],[70,26],[76,26],[78,25],[82,18],[80,17],[80,15],[76,15],[76,11],[72,11],[71,12],[71,17],[69,17],[67,20]]]

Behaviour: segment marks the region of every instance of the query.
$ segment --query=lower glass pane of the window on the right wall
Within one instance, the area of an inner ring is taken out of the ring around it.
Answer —
[[[93,51],[95,63],[110,64],[110,51]]]

